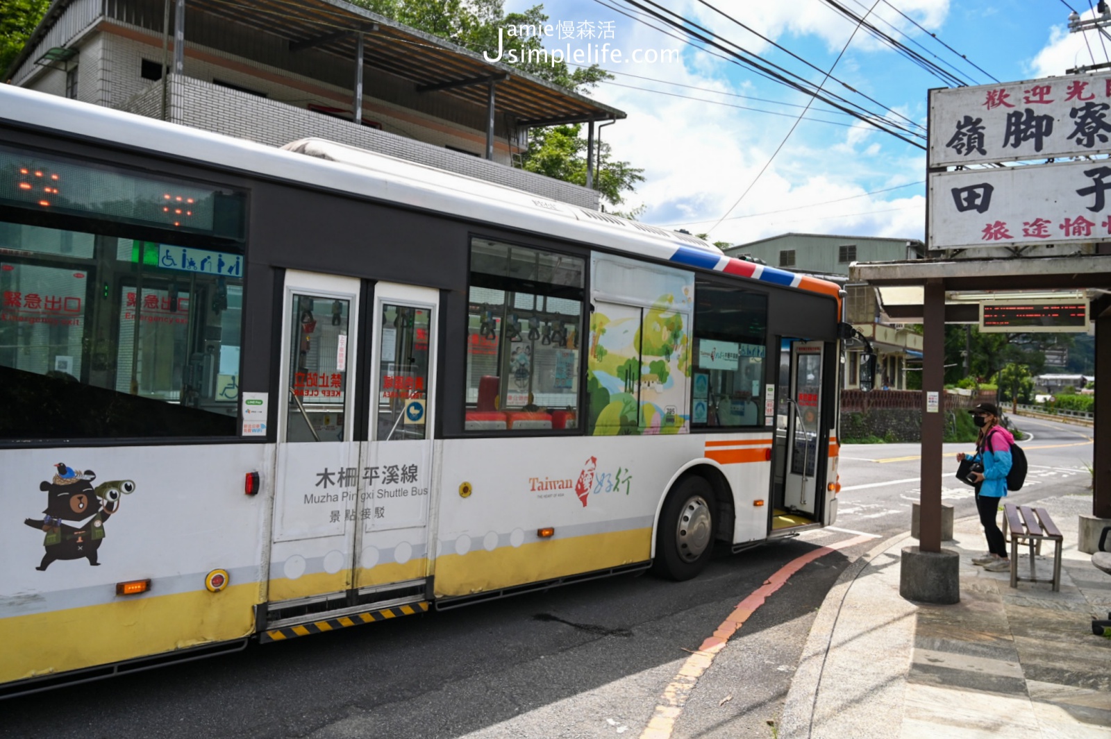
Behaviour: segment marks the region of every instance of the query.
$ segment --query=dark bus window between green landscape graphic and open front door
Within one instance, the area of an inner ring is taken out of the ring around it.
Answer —
[[[764,425],[767,340],[765,295],[695,282],[694,428]]]

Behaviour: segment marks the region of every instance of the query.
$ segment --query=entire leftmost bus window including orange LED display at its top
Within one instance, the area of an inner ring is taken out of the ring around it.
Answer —
[[[0,171],[0,438],[236,435],[242,195],[8,148]]]

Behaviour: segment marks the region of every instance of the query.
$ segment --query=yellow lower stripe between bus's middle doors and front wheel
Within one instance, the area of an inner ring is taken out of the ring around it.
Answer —
[[[559,535],[559,527],[556,534]],[[441,598],[472,595],[630,565],[645,561],[651,551],[652,529],[635,528],[531,541],[493,551],[440,555],[436,560],[436,595]]]

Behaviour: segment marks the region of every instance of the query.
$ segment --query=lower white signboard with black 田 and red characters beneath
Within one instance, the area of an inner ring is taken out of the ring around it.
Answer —
[[[930,250],[1105,241],[1111,161],[930,174]]]

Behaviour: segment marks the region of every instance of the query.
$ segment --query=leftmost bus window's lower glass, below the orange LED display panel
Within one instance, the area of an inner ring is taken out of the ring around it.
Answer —
[[[234,436],[242,255],[0,222],[0,439]]]

